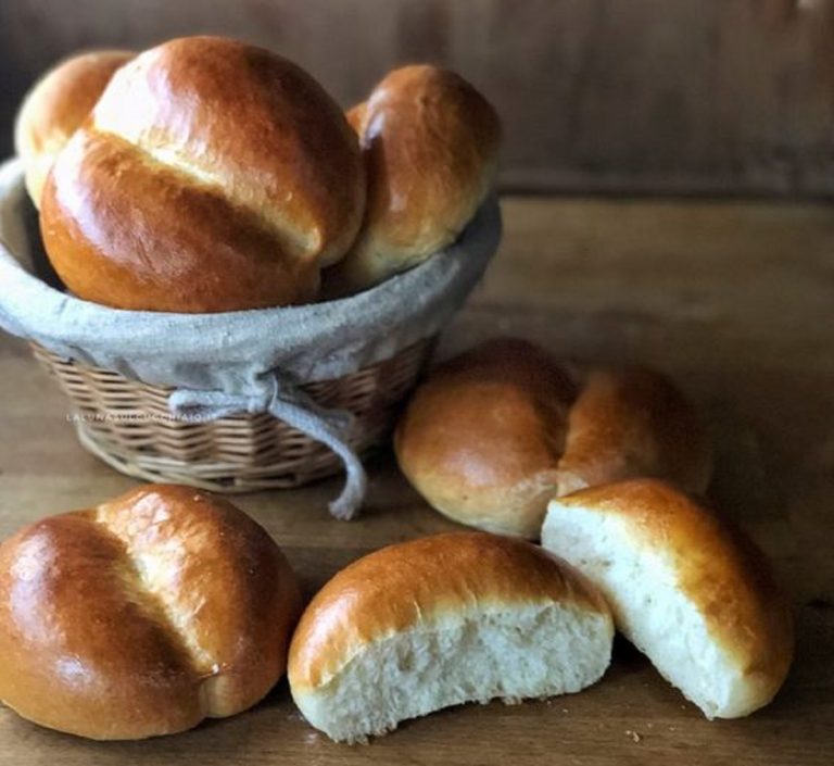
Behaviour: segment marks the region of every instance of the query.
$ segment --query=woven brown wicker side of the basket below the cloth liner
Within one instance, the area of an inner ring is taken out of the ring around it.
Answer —
[[[350,444],[363,453],[388,438],[433,346],[425,339],[352,375],[301,388],[318,404],[355,415]],[[31,349],[70,397],[81,444],[128,476],[231,493],[300,487],[342,470],[327,447],[267,413],[177,419],[167,405],[173,389],[62,359],[37,343]]]

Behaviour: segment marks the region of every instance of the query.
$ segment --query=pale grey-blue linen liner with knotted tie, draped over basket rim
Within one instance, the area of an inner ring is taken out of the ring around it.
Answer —
[[[123,311],[61,292],[35,273],[25,226],[29,205],[18,159],[0,166],[0,327],[83,364],[173,387],[175,417],[213,420],[268,412],[329,447],[346,481],[330,503],[352,518],[367,479],[348,444],[354,417],[299,389],[390,359],[451,319],[501,239],[490,198],[460,238],[419,266],[338,301],[220,314]]]

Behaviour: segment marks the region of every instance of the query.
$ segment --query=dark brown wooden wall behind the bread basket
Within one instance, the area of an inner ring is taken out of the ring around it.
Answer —
[[[80,48],[237,36],[344,104],[435,61],[506,123],[531,191],[834,193],[827,0],[0,0],[0,150],[20,99]]]

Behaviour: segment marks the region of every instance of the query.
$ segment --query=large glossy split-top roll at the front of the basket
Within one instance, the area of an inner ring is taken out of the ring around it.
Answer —
[[[218,37],[123,66],[58,156],[47,252],[80,298],[223,312],[302,303],[362,223],[356,136],[291,62]]]

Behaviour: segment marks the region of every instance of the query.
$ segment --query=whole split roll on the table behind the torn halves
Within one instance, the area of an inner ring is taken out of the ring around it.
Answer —
[[[698,419],[662,376],[640,367],[583,375],[507,338],[438,367],[412,398],[394,447],[434,508],[530,539],[555,494],[634,476],[699,492],[710,468]]]

